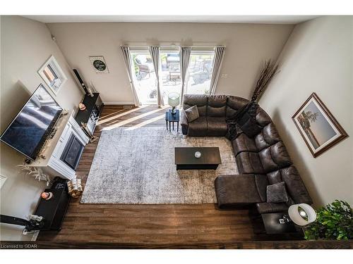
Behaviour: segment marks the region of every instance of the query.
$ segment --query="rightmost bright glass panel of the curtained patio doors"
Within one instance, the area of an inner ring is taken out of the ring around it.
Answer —
[[[191,51],[186,94],[210,94],[214,51]]]

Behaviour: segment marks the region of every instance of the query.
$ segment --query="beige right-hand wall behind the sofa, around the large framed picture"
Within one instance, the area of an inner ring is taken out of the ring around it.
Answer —
[[[280,73],[260,100],[285,141],[316,206],[353,205],[353,18],[322,17],[294,28],[280,55]],[[316,92],[350,137],[313,158],[292,115]]]

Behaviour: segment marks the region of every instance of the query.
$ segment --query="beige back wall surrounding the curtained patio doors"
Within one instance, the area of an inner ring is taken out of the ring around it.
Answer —
[[[92,81],[106,103],[132,103],[121,44],[227,46],[217,94],[249,98],[261,62],[277,59],[293,25],[227,23],[49,23],[69,65]],[[96,74],[89,56],[104,56],[109,74]]]

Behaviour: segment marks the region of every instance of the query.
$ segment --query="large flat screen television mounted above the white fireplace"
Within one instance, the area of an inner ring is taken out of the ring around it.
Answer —
[[[40,84],[0,140],[34,161],[62,111]]]

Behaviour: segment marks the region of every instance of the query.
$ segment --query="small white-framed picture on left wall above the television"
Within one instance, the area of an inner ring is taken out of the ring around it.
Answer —
[[[56,61],[54,56],[50,56],[50,58],[42,65],[37,73],[40,77],[42,77],[44,82],[48,85],[52,92],[54,92],[54,94],[59,92],[67,80],[66,75],[63,70],[61,70],[59,63]]]

